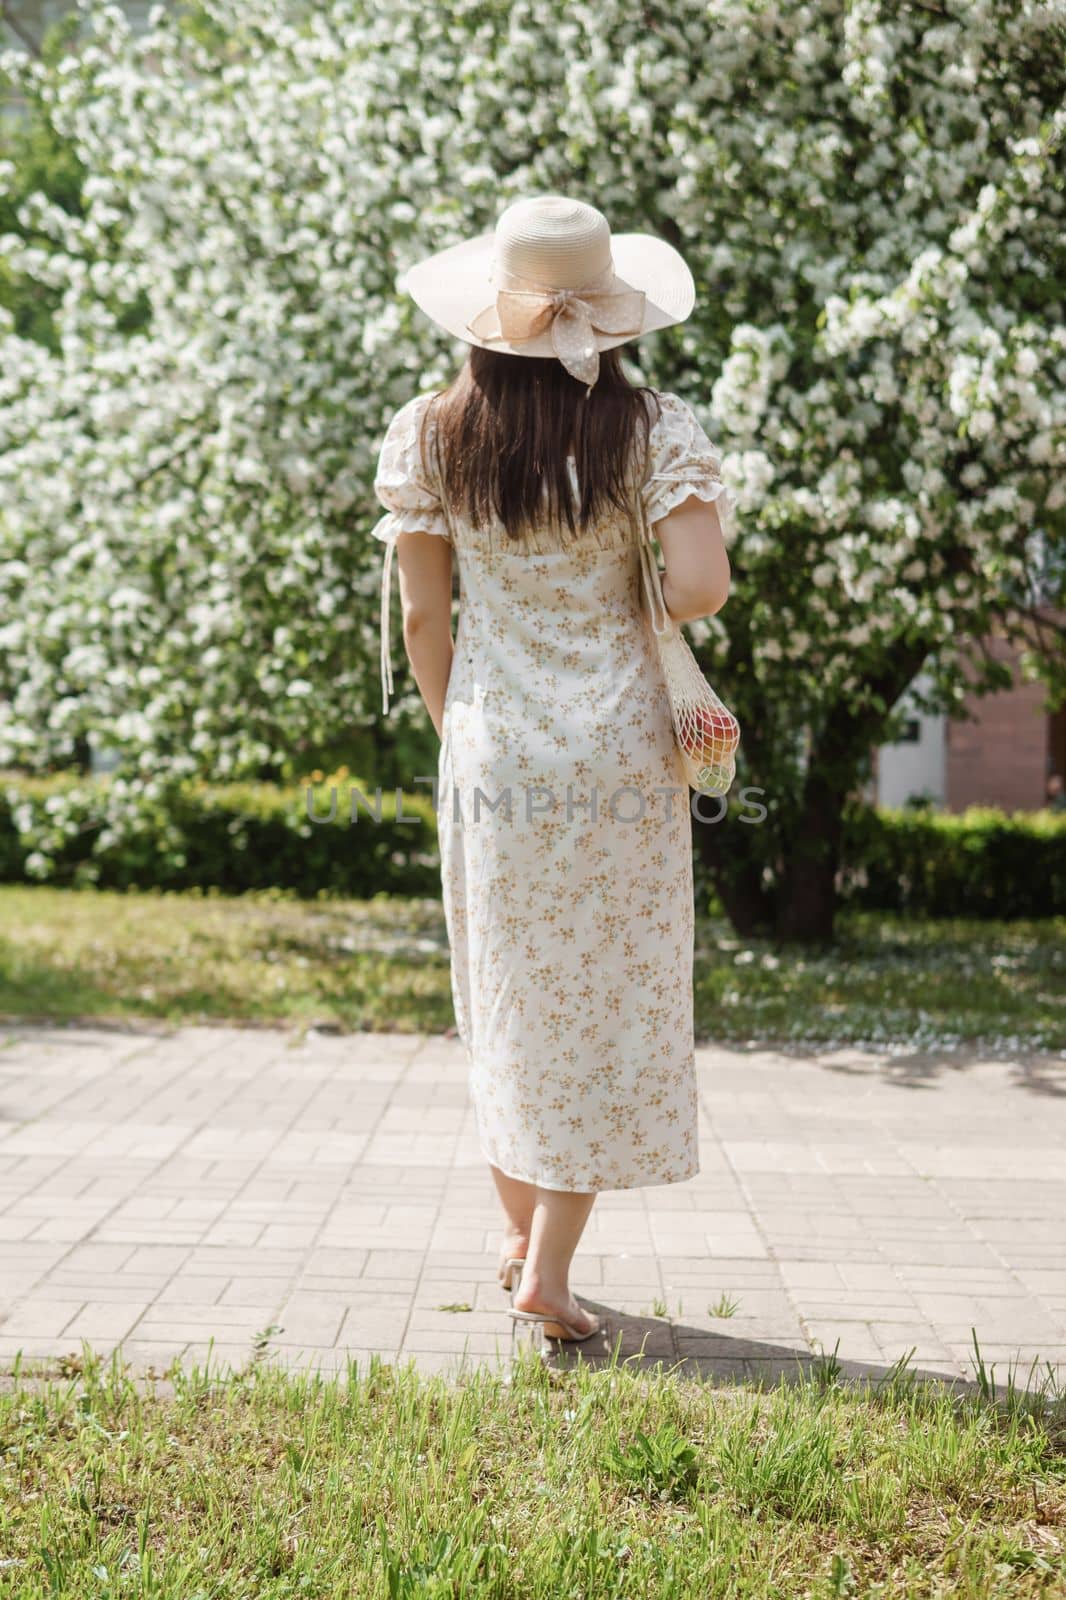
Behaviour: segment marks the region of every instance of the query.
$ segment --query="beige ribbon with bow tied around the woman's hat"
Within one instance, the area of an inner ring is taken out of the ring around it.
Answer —
[[[555,355],[592,390],[600,376],[597,333],[640,333],[643,290],[498,290],[467,328],[485,342],[522,344],[551,328]]]

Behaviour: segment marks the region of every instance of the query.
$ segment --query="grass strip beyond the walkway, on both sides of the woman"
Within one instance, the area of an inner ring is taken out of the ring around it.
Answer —
[[[0,888],[0,1014],[443,1032],[439,901]],[[696,923],[701,1042],[1066,1048],[1066,917],[845,914],[829,952]]]

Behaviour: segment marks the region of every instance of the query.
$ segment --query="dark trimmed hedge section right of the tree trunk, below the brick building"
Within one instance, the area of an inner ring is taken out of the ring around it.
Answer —
[[[847,906],[916,917],[1066,912],[1066,813],[855,808],[845,816]]]

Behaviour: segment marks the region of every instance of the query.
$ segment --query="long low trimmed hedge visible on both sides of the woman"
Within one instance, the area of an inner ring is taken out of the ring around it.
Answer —
[[[375,787],[344,770],[309,779],[319,814],[336,792],[336,819],[312,822],[306,786],[194,784],[141,813],[136,832],[110,834],[107,778],[72,774],[0,781],[0,882],[99,888],[282,888],[309,899],[440,893],[429,792],[381,797],[381,822],[349,821],[352,790]],[[698,854],[696,872],[699,874]],[[840,898],[863,910],[922,917],[1050,917],[1066,909],[1066,813],[972,806],[850,808]]]

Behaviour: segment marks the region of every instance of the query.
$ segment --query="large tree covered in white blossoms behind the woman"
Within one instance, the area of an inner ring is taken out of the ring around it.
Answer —
[[[626,354],[739,496],[691,627],[767,808],[696,827],[738,926],[831,931],[842,808],[919,667],[957,709],[1000,627],[1061,686],[1061,3],[80,10],[59,64],[3,62],[90,176],[82,216],[30,197],[0,238],[59,334],[0,315],[0,763],[91,733],[120,827],[375,715],[373,462],[463,354],[399,277],[546,190],[696,278]]]

